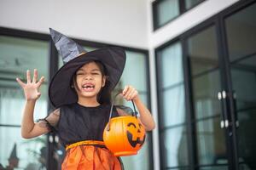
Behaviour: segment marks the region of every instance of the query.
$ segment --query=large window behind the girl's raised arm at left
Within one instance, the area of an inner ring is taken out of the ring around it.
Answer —
[[[49,82],[49,44],[40,40],[0,36],[0,163],[8,167],[34,169],[44,167],[46,160],[46,136],[37,139],[21,139],[20,123],[24,108],[24,93],[16,77],[26,80],[26,70],[38,69],[45,77],[41,97],[35,108],[35,120],[47,115],[47,85]]]

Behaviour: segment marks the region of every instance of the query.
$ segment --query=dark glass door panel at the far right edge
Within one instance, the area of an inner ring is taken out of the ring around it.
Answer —
[[[256,3],[224,20],[239,169],[256,169]],[[234,133],[234,132],[233,132]]]

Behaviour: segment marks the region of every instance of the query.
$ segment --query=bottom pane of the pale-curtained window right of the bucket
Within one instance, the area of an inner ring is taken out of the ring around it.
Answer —
[[[186,126],[174,127],[160,132],[160,150],[164,167],[188,165],[188,142]]]

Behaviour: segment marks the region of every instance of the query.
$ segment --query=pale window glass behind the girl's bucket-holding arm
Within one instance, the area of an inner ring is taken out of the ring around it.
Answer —
[[[117,84],[113,94],[115,94],[119,89],[123,89],[125,85],[131,85],[134,88],[137,88],[140,98],[143,100],[145,105],[148,105],[148,94],[149,89],[147,85],[148,73],[146,55],[143,53],[137,53],[132,51],[125,51],[126,53],[126,64],[125,70],[122,77],[120,78],[119,83]],[[116,104],[126,105],[133,108],[131,102],[126,101],[125,99],[118,99]],[[125,169],[142,169],[148,170],[150,166],[150,151],[149,151],[149,140],[145,141],[143,149],[138,152],[136,156],[122,157],[124,161]]]

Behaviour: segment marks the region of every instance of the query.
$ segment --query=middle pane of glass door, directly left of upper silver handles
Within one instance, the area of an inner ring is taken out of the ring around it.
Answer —
[[[193,98],[197,119],[221,113],[218,100],[219,84],[219,71],[212,71],[193,79]]]

